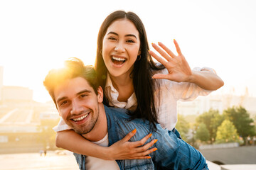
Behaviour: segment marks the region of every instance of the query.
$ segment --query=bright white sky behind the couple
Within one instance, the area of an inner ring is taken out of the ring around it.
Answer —
[[[68,57],[94,64],[97,32],[112,11],[133,11],[149,43],[175,38],[193,67],[212,67],[225,81],[217,93],[256,96],[256,1],[0,1],[0,66],[4,86],[33,89],[49,101],[43,79]]]

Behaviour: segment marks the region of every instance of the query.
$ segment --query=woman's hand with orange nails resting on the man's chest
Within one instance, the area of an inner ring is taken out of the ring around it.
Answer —
[[[151,140],[151,142],[144,145],[146,140],[151,137],[152,134],[146,135],[142,140],[136,142],[129,142],[129,140],[136,134],[136,129],[129,132],[122,140],[115,142],[109,147],[109,159],[149,159],[149,154],[156,151],[156,147],[152,147],[157,140]]]

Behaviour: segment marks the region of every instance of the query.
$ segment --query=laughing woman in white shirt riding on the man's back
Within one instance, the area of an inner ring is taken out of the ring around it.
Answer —
[[[107,16],[98,34],[95,62],[98,81],[100,86],[105,87],[104,103],[133,111],[132,118],[144,118],[174,130],[178,100],[206,96],[223,86],[223,81],[210,69],[191,71],[176,40],[174,44],[178,56],[161,42],[159,46],[163,50],[152,44],[166,59],[163,60],[149,50],[143,23],[135,13],[115,11]],[[151,56],[161,64],[154,63]],[[153,152],[149,149],[153,142],[139,147],[149,135],[141,141],[128,142],[135,134],[130,132],[123,140],[104,148],[66,129],[67,125],[58,125],[56,145],[78,154],[101,159],[145,159],[147,154]],[[70,137],[72,142],[68,140]]]

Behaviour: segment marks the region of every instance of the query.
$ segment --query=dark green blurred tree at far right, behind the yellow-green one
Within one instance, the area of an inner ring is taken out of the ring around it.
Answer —
[[[223,115],[225,115],[226,119],[233,122],[235,128],[238,130],[238,135],[244,141],[247,140],[248,136],[256,135],[254,121],[242,106],[228,108],[223,111]]]

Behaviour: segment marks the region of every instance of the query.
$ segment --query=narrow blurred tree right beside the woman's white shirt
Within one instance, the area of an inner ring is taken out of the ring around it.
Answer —
[[[178,114],[178,123],[176,124],[175,128],[181,134],[181,138],[187,142],[187,140],[188,140],[187,134],[188,134],[188,130],[189,130],[189,124],[183,115]]]

